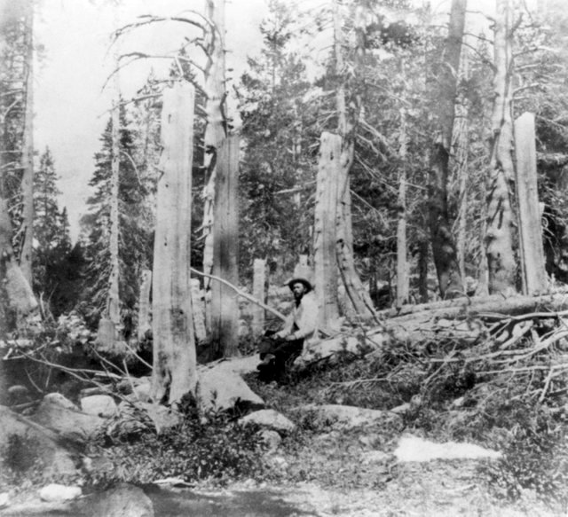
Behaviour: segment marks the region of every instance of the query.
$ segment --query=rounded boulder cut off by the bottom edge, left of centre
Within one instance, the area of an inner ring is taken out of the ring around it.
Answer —
[[[122,484],[98,495],[91,517],[154,517],[154,505],[144,490]]]

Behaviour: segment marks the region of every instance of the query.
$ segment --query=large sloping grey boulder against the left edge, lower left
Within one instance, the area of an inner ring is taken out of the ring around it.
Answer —
[[[49,429],[4,406],[0,406],[0,429],[0,449],[13,446],[13,437],[18,437],[20,451],[23,452],[21,444],[26,446],[27,454],[31,455],[27,459],[38,459],[43,464],[43,474],[46,477],[76,474],[72,453],[61,445],[59,436]],[[0,456],[0,471],[4,469],[4,461],[5,458]]]

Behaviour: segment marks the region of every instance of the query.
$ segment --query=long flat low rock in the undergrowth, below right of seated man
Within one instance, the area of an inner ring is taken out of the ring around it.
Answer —
[[[307,404],[298,411],[309,412],[315,419],[316,426],[335,429],[352,429],[354,427],[390,427],[400,430],[402,418],[392,411],[367,410],[356,406],[339,404]]]

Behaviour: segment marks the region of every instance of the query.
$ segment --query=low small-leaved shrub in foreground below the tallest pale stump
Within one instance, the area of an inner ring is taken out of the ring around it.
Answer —
[[[176,427],[157,435],[146,429],[135,443],[115,438],[105,448],[113,467],[91,474],[92,484],[152,482],[179,477],[185,482],[211,480],[220,483],[263,473],[263,445],[257,427],[240,426],[225,413],[199,416],[193,403],[182,407],[184,418]],[[106,436],[106,439],[108,436]],[[103,437],[99,445],[103,445]]]

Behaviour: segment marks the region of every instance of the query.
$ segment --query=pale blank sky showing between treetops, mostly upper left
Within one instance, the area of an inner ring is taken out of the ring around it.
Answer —
[[[17,0],[16,0],[17,1]],[[301,4],[309,4],[304,0]],[[416,0],[420,2],[422,0]],[[470,9],[492,11],[495,0],[469,0]],[[187,9],[201,11],[204,0],[37,0],[36,44],[44,59],[36,66],[36,150],[51,148],[67,206],[72,237],[85,211],[93,155],[108,119],[112,88],[103,85],[114,69],[110,35],[142,14],[176,15]],[[318,2],[321,4],[321,2]],[[437,12],[447,12],[448,0],[433,1]],[[227,0],[227,67],[238,81],[248,55],[260,51],[258,26],[267,14],[265,0]],[[181,24],[160,24],[139,29],[122,40],[120,51],[160,53],[177,49],[187,30]],[[322,56],[318,56],[321,59]],[[165,61],[139,63],[121,73],[121,89],[128,98],[143,85],[151,67],[168,67]],[[231,90],[231,84],[229,84]],[[233,114],[234,115],[234,114]]]

